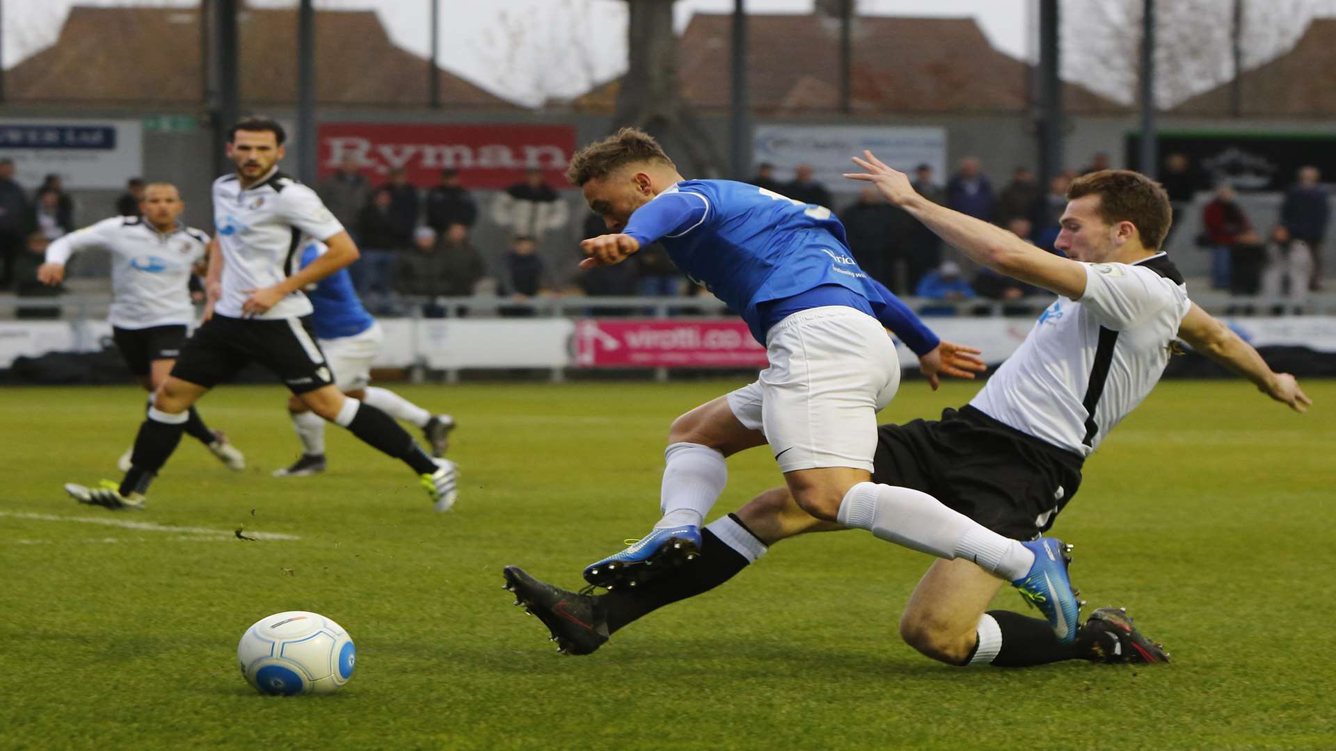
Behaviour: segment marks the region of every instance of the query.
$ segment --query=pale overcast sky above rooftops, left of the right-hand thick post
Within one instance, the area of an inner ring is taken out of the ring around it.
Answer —
[[[294,0],[251,0],[295,7]],[[72,5],[196,7],[192,0],[9,0],[3,64],[11,67],[56,40]],[[974,16],[998,48],[1025,56],[1033,0],[859,0],[862,13]],[[429,0],[315,0],[317,9],[374,8],[399,45],[428,55]],[[731,12],[733,0],[677,0],[676,24],[693,12]],[[754,13],[808,13],[812,0],[747,0]],[[625,4],[620,0],[441,0],[442,67],[510,99],[582,92],[625,67]],[[510,40],[522,37],[525,44]],[[597,39],[597,44],[588,41]],[[582,48],[573,55],[572,48]]]

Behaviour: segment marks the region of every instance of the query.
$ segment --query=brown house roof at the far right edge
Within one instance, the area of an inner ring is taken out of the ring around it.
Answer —
[[[1295,47],[1244,71],[1240,114],[1249,116],[1331,116],[1336,114],[1336,19],[1315,19]],[[1233,82],[1193,96],[1173,110],[1176,115],[1229,115]]]

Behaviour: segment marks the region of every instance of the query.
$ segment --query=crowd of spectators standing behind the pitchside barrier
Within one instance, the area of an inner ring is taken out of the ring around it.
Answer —
[[[1106,154],[1093,155],[1081,174],[1109,167]],[[48,175],[31,194],[13,179],[13,163],[0,159],[0,290],[20,294],[52,294],[49,287],[28,283],[41,262],[47,243],[75,229],[75,204],[59,175]],[[1176,219],[1194,196],[1210,187],[1189,159],[1170,154],[1164,160],[1161,182],[1174,207]],[[1061,230],[1066,190],[1075,171],[1054,175],[1041,186],[1027,167],[1015,167],[1010,179],[995,188],[975,156],[965,156],[957,170],[939,182],[930,164],[919,164],[911,180],[930,200],[978,219],[1009,229],[1049,250]],[[1316,167],[1304,167],[1285,192],[1277,223],[1260,230],[1228,184],[1214,186],[1201,210],[1197,247],[1210,254],[1210,283],[1236,295],[1264,295],[1300,305],[1321,281],[1321,242],[1329,223],[1329,192]],[[815,178],[810,164],[799,164],[790,180],[782,180],[772,164],[762,163],[751,183],[776,194],[826,206],[844,224],[850,249],[859,265],[892,291],[906,297],[945,301],[927,313],[955,311],[958,301],[982,298],[1010,302],[1039,290],[963,262],[908,212],[864,187],[851,202],[835,206],[828,186]],[[355,159],[342,163],[319,180],[317,192],[329,210],[353,234],[362,258],[350,269],[354,285],[378,313],[402,313],[403,297],[441,298],[494,294],[514,301],[552,295],[680,297],[697,294],[673,266],[665,249],[651,245],[628,263],[587,271],[576,237],[570,233],[570,200],[545,182],[540,170],[529,170],[516,184],[492,194],[480,207],[464,187],[457,170],[442,170],[440,182],[426,190],[414,186],[401,168],[375,180],[362,174]],[[138,215],[144,180],[132,178],[116,199],[122,215]],[[485,249],[474,243],[480,219],[489,227]],[[603,219],[588,215],[581,238],[604,234]],[[522,315],[528,306],[501,306],[506,315]],[[1003,310],[1019,311],[1021,307]],[[462,315],[428,303],[426,315]]]

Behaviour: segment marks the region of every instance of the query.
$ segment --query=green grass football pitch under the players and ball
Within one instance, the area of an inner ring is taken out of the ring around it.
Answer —
[[[295,437],[285,392],[251,386],[200,402],[243,473],[184,438],[147,510],[79,506],[61,484],[116,477],[142,394],[0,390],[0,748],[1336,747],[1332,381],[1305,384],[1307,416],[1241,381],[1166,382],[1088,462],[1054,529],[1077,545],[1073,579],[1092,607],[1126,605],[1170,665],[929,661],[896,619],[930,560],[859,532],[787,541],[596,655],[558,655],[501,567],[578,584],[656,518],[669,421],[736,385],[405,386],[460,420],[448,514],[334,428],[326,474],[271,478]],[[974,389],[907,382],[883,420]],[[735,457],[716,513],[779,481],[764,450]],[[998,607],[1023,605],[1007,591]],[[353,635],[341,692],[244,683],[236,640],[285,609]]]

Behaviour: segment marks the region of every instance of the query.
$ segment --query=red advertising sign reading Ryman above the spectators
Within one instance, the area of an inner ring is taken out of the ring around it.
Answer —
[[[574,126],[325,123],[319,127],[319,176],[355,159],[379,183],[394,167],[421,187],[441,182],[441,170],[460,171],[465,187],[504,188],[529,168],[548,184],[568,188],[565,170],[576,148]]]

